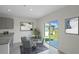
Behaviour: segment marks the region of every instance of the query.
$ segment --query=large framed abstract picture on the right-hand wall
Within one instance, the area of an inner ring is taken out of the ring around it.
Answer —
[[[79,34],[79,17],[65,19],[65,32],[70,34]]]

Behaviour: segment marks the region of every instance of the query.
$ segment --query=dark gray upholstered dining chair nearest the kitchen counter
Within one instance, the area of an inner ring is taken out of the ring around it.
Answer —
[[[21,41],[24,53],[31,53],[32,52],[31,37],[21,37]]]

